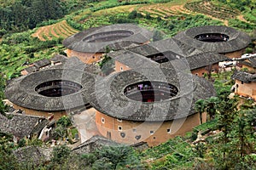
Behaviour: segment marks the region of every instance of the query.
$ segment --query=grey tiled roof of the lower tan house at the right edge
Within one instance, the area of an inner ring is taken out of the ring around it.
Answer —
[[[246,83],[256,82],[256,74],[252,74],[245,71],[235,71],[231,78]]]

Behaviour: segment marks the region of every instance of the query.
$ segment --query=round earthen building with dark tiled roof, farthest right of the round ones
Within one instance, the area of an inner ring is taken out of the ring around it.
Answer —
[[[251,42],[246,33],[227,26],[193,27],[174,38],[204,52],[224,54],[230,59],[241,57]]]

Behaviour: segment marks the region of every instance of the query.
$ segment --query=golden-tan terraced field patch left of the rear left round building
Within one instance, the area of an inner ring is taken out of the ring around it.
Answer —
[[[69,37],[79,31],[67,24],[67,20],[62,20],[50,26],[42,26],[38,31],[32,34],[32,37],[38,37],[41,41],[51,40],[58,37]]]

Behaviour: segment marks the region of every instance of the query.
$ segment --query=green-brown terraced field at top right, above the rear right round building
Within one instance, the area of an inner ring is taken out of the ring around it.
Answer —
[[[220,20],[234,19],[237,15],[240,14],[240,11],[234,8],[218,6],[207,0],[186,3],[184,7],[189,9],[190,11],[206,14]]]

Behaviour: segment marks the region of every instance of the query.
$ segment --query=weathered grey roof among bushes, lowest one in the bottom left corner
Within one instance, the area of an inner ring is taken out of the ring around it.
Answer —
[[[49,161],[51,152],[52,149],[50,148],[41,148],[38,146],[26,146],[13,151],[18,161],[33,162],[36,164]]]

